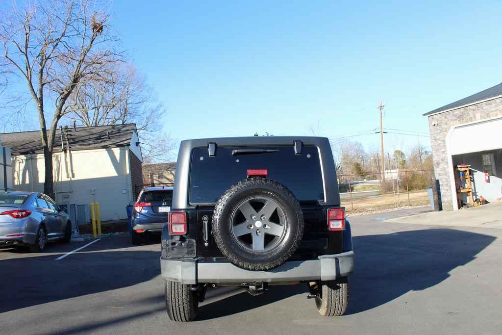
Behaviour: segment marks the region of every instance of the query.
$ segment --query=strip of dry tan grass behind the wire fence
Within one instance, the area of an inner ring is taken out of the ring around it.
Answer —
[[[341,199],[341,205],[345,206],[347,212],[359,211],[376,211],[388,208],[396,208],[400,206],[408,206],[408,194],[401,193],[399,201],[397,194],[386,193],[379,195],[362,195],[357,194],[352,197],[353,205],[350,203],[350,197],[346,196]],[[429,204],[429,196],[426,191],[410,192],[411,206],[420,206]]]

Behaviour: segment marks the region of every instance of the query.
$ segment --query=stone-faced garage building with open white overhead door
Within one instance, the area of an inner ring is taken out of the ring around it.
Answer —
[[[458,209],[455,167],[469,164],[474,198],[502,196],[502,83],[424,114],[444,209]]]

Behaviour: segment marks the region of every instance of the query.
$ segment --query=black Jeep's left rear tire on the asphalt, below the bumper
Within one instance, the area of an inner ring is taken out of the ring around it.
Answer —
[[[177,322],[195,320],[199,310],[199,300],[190,285],[166,280],[166,311],[169,318]]]

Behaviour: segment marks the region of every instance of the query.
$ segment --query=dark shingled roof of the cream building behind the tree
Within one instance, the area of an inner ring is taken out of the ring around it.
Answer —
[[[71,150],[88,150],[128,146],[136,131],[135,124],[68,128]],[[64,131],[63,131],[64,133]],[[40,131],[2,134],[2,145],[13,155],[43,153]],[[54,152],[61,152],[61,131],[56,131]]]

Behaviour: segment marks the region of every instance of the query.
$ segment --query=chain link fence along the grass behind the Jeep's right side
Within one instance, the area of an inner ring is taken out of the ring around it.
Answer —
[[[341,205],[347,213],[430,204],[431,170],[389,170],[363,176],[339,175]]]

